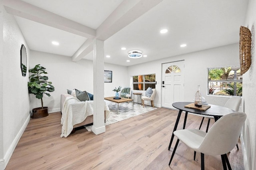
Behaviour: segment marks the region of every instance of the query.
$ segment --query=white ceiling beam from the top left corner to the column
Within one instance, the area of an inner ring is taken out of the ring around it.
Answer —
[[[94,38],[96,30],[74,22],[22,0],[4,0],[6,12],[86,38]]]

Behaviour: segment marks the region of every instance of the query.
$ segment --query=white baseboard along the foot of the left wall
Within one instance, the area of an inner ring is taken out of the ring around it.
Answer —
[[[12,156],[12,153],[14,152],[14,149],[16,148],[16,146],[17,146],[23,132],[25,131],[29,121],[30,121],[30,114],[28,115],[28,117],[27,117],[26,121],[24,122],[22,128],[20,129],[20,131],[18,132],[18,134],[14,138],[14,140],[13,140],[11,146],[8,148],[6,154],[4,155],[4,169],[6,168],[8,162],[9,162],[11,156]],[[1,169],[1,163],[2,163],[2,161],[0,161],[0,169]]]

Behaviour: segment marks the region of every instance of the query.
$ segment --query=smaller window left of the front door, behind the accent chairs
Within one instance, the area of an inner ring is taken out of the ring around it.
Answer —
[[[156,74],[136,75],[132,79],[134,90],[146,90],[148,87],[156,88]]]

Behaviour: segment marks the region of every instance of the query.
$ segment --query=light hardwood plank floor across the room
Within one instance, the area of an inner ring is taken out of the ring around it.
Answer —
[[[60,138],[60,112],[31,119],[6,170],[199,170],[200,154],[194,161],[194,151],[182,142],[168,166],[176,143],[175,137],[168,150],[177,115],[178,111],[158,108],[109,125],[102,134],[95,135],[82,128],[67,138]],[[184,114],[177,129],[182,128],[183,120]],[[189,114],[186,128],[198,128],[200,122],[201,117]],[[207,121],[202,130],[206,124]],[[241,150],[235,147],[228,158],[232,169],[244,169]],[[223,169],[220,156],[205,155],[204,160],[206,170]]]

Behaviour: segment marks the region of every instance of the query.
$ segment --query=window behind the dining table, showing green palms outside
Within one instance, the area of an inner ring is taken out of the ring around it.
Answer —
[[[208,68],[208,89],[209,95],[242,96],[240,66]]]

